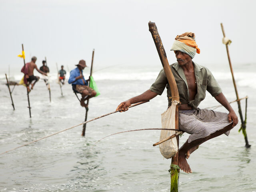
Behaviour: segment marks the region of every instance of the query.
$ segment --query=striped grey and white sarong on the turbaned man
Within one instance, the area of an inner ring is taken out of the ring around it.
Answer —
[[[179,129],[191,134],[188,137],[189,143],[207,137],[229,124],[232,122],[228,122],[227,113],[199,108],[179,111]],[[228,136],[229,133],[230,130],[225,134]]]

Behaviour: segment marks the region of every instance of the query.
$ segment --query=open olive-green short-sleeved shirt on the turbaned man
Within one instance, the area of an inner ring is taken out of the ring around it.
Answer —
[[[206,90],[214,97],[222,92],[219,84],[216,79],[208,70],[208,68],[200,66],[193,62],[194,64],[194,72],[196,77],[196,87],[197,94],[194,100],[189,100],[189,91],[188,91],[188,82],[186,80],[186,76],[183,72],[182,67],[179,66],[178,62],[171,64],[170,68],[172,70],[172,74],[174,75],[176,84],[178,86],[178,91],[180,95],[181,104],[188,104],[192,106],[192,108],[196,109],[200,102],[204,100],[206,96]],[[167,88],[167,97],[168,97],[168,107],[172,104],[171,90],[166,78],[166,74],[164,69],[162,69],[156,78],[156,81],[150,87],[152,92],[161,95],[164,91],[164,88]]]

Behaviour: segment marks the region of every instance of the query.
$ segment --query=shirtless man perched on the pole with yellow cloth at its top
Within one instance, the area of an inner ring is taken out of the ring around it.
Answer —
[[[43,72],[37,68],[36,59],[37,58],[35,56],[33,56],[31,58],[31,62],[28,65],[28,79],[27,79],[28,80],[28,86],[27,86],[28,92],[30,92],[29,85],[31,84],[31,89],[33,89],[36,82],[39,80],[39,76],[34,76],[34,69],[36,69],[39,73],[47,76],[47,74],[45,72]],[[32,83],[32,82],[34,82],[34,83]]]

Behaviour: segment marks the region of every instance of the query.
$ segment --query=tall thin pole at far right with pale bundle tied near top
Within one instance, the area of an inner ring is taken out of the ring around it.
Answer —
[[[225,36],[223,24],[221,23],[220,26],[221,26],[221,29],[222,29],[223,36],[225,38],[226,36]],[[232,68],[232,64],[231,64],[231,60],[230,60],[230,56],[229,56],[229,51],[228,51],[228,43],[226,44],[226,50],[227,50],[227,54],[228,54],[228,62],[229,62],[230,71],[231,71],[231,74],[232,74],[232,80],[233,80],[233,84],[234,84],[234,88],[235,88],[235,92],[236,92],[236,98],[237,98],[237,104],[238,104],[238,113],[240,115],[240,119],[241,119],[241,123],[242,123],[241,128],[239,129],[239,131],[242,130],[242,132],[244,134],[245,146],[246,146],[246,148],[249,148],[250,145],[249,145],[247,134],[246,134],[246,121],[244,121],[244,119],[243,119],[240,99],[239,99],[239,96],[238,96],[238,91],[237,91],[237,88],[236,88],[236,81],[235,81],[235,78],[234,78],[233,68]]]

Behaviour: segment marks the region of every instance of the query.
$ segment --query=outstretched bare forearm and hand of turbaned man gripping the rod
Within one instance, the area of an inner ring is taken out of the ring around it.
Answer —
[[[127,111],[129,109],[129,106],[131,106],[131,104],[148,101],[156,96],[157,96],[157,93],[152,92],[151,90],[147,90],[144,93],[142,93],[136,97],[130,98],[130,99],[120,103],[118,105],[118,107],[116,108],[116,110],[122,109],[122,111],[120,111],[120,112]]]

